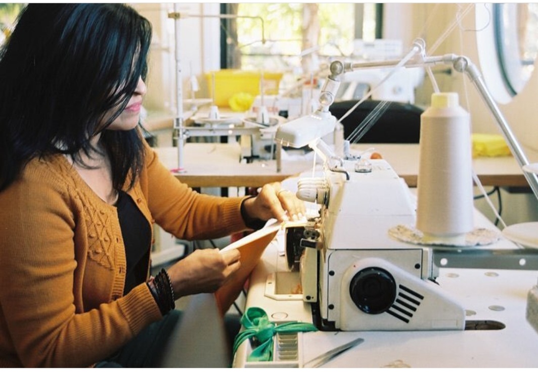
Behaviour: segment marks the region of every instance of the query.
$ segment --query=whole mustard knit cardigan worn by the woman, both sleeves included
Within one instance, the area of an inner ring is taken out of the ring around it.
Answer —
[[[178,238],[246,228],[242,198],[198,194],[148,146],[128,194]],[[145,283],[123,296],[125,268],[115,206],[63,155],[30,161],[0,193],[0,367],[88,367],[161,319]]]

